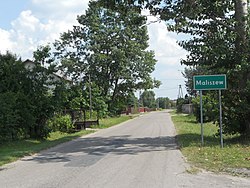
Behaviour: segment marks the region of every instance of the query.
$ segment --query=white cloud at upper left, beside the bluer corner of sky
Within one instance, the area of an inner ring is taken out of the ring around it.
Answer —
[[[30,10],[24,10],[11,22],[10,30],[0,28],[0,51],[9,50],[22,59],[32,58],[38,45],[53,43],[60,33],[77,24],[88,0],[31,0]]]

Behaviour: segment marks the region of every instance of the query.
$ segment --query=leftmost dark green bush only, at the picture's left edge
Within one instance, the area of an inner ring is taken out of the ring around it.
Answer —
[[[35,117],[30,114],[29,85],[23,63],[7,53],[0,55],[0,142],[28,135]]]

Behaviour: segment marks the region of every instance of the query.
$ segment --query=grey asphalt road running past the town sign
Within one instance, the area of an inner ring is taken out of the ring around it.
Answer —
[[[6,165],[0,187],[250,187],[250,179],[187,168],[170,115],[153,112]]]

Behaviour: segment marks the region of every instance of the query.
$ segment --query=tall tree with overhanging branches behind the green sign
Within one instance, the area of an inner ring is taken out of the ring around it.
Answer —
[[[104,0],[105,1],[105,0]],[[111,7],[119,9],[119,0]],[[225,73],[223,94],[225,132],[250,135],[250,53],[248,0],[124,0],[166,20],[168,29],[191,35],[179,44],[189,55],[182,63]]]

